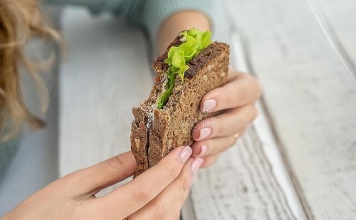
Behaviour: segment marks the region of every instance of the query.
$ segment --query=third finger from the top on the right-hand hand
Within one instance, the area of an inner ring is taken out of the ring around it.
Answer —
[[[225,137],[214,137],[209,138],[207,140],[194,142],[194,144],[192,145],[192,156],[205,157],[209,155],[219,154],[236,143],[236,134]]]

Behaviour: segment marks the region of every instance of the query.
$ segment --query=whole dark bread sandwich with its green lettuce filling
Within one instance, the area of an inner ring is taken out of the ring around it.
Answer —
[[[192,129],[209,117],[201,98],[227,81],[229,45],[212,42],[210,31],[182,31],[153,62],[155,85],[147,100],[133,108],[131,150],[135,177],[174,147],[192,145]]]

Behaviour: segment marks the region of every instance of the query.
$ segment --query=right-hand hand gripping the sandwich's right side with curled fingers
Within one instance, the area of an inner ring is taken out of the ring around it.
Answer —
[[[207,93],[201,100],[203,112],[219,115],[199,122],[192,132],[195,140],[193,156],[203,157],[207,167],[214,163],[221,152],[234,145],[246,127],[256,118],[254,105],[261,96],[261,87],[251,75],[229,73],[228,83]]]

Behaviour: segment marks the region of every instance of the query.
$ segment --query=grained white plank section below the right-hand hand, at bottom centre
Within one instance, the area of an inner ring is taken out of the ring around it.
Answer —
[[[192,200],[197,219],[295,219],[253,129],[201,170]]]

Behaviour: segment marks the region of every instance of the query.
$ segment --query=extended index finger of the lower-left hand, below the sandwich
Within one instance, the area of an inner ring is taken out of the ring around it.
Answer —
[[[129,216],[157,197],[157,194],[177,178],[191,154],[192,149],[189,146],[174,148],[157,165],[131,182],[104,197],[95,199],[95,206],[114,214],[116,219]]]

